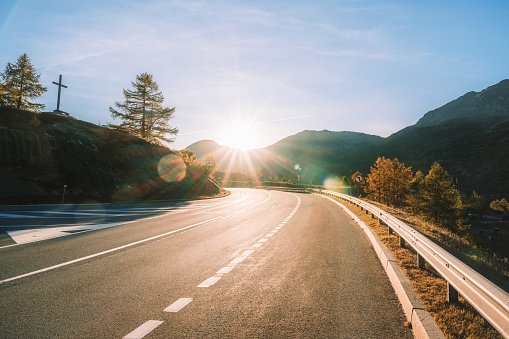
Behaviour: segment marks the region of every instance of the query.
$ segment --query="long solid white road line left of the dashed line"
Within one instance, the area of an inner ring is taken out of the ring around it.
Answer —
[[[264,203],[265,201],[269,200],[271,197],[272,196],[269,194],[269,197],[267,199],[265,199],[265,200],[255,204],[255,205],[251,206],[250,208],[254,208],[254,207]],[[238,214],[238,213],[240,213],[240,212],[236,212],[235,214]],[[0,280],[0,284],[4,284],[6,282],[18,280],[18,279],[21,279],[21,278],[26,278],[26,277],[29,277],[29,276],[34,275],[34,274],[51,271],[51,270],[54,270],[56,268],[60,268],[60,267],[64,267],[64,266],[67,266],[67,265],[78,263],[80,261],[85,261],[85,260],[88,260],[88,259],[99,257],[99,256],[104,255],[104,254],[116,252],[116,251],[122,250],[124,248],[132,247],[132,246],[139,245],[139,244],[143,244],[143,243],[146,243],[148,241],[152,241],[152,240],[155,240],[155,239],[163,238],[163,237],[166,237],[168,235],[171,235],[171,234],[174,234],[174,233],[177,233],[177,232],[182,232],[184,230],[188,230],[188,229],[191,229],[191,228],[196,228],[196,227],[199,227],[199,226],[202,226],[202,225],[205,225],[205,224],[209,224],[211,222],[218,221],[218,220],[225,219],[225,218],[227,218],[227,216],[215,217],[215,218],[212,218],[212,219],[200,221],[200,222],[198,222],[196,224],[189,225],[189,226],[186,226],[186,227],[182,227],[182,228],[179,228],[177,230],[173,230],[173,231],[166,232],[166,233],[163,233],[163,234],[159,234],[159,235],[156,235],[154,237],[150,237],[150,238],[147,238],[147,239],[135,241],[135,242],[130,243],[130,244],[126,244],[126,245],[123,245],[123,246],[115,247],[115,248],[112,248],[112,249],[109,249],[109,250],[106,250],[106,251],[102,251],[102,252],[99,252],[99,253],[87,255],[86,257],[82,257],[82,258],[66,261],[66,262],[63,262],[63,263],[58,264],[58,265],[54,265],[54,266],[50,266],[50,267],[45,267],[45,268],[42,268],[40,270],[32,271],[32,272],[25,273],[25,274],[22,274],[22,275],[18,275],[18,276],[12,277],[12,278]]]

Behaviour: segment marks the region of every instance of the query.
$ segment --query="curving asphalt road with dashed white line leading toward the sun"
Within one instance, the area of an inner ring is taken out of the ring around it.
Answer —
[[[154,210],[52,239],[4,235],[0,337],[412,337],[366,236],[327,199],[232,189],[144,206]]]

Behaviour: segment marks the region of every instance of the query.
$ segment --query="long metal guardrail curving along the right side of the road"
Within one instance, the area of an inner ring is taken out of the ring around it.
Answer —
[[[319,190],[314,190],[318,192]],[[421,266],[425,260],[447,281],[449,295],[461,294],[504,338],[509,338],[509,294],[477,273],[471,267],[414,230],[401,220],[361,199],[346,194],[319,191],[322,194],[348,200],[369,211],[398,233],[417,252]]]

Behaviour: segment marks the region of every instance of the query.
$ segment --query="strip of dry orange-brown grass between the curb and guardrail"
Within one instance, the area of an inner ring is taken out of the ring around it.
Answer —
[[[426,309],[433,316],[446,338],[502,338],[500,333],[461,296],[457,303],[447,302],[447,282],[428,264],[424,269],[418,268],[416,253],[412,249],[399,247],[398,237],[394,234],[389,235],[387,226],[379,224],[378,219],[373,219],[371,215],[367,215],[356,205],[343,200],[341,203],[357,214],[378,234],[380,240],[392,252],[412,282]],[[413,226],[415,227],[415,225]],[[416,227],[416,229],[421,227]],[[453,233],[440,234],[445,239],[447,246],[453,245],[454,247],[454,245],[458,245],[458,242],[461,243],[461,239]]]

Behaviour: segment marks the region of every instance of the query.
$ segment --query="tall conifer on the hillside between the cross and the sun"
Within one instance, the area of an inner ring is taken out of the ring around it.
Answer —
[[[124,102],[115,102],[119,111],[110,106],[113,118],[119,118],[119,125],[109,124],[110,127],[127,131],[147,141],[158,139],[173,142],[167,135],[176,135],[178,129],[169,126],[169,120],[175,113],[174,108],[163,107],[164,96],[159,91],[159,85],[152,75],[142,73],[131,82],[134,90],[124,89]]]

